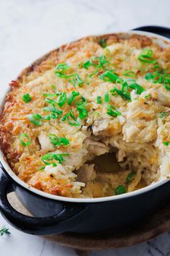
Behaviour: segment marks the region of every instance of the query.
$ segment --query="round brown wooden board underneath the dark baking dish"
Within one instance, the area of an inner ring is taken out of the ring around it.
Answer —
[[[9,194],[9,202],[19,212],[30,216],[30,213],[23,207],[14,192]],[[140,242],[145,242],[158,234],[170,229],[170,203],[162,206],[152,216],[140,222],[138,226],[131,226],[130,229],[113,230],[102,234],[72,234],[63,233],[53,236],[45,236],[52,242],[76,249],[78,255],[88,255],[92,249],[114,249],[128,247]]]

